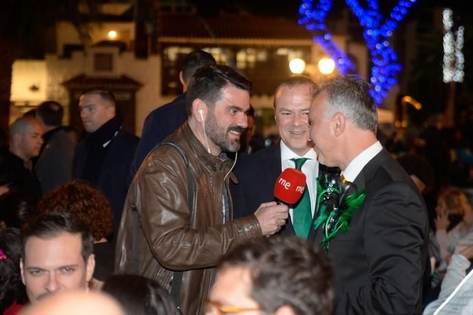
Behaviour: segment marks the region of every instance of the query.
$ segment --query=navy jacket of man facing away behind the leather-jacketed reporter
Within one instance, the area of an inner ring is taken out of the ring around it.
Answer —
[[[171,103],[160,106],[147,115],[145,124],[143,124],[140,143],[138,143],[130,175],[128,176],[128,183],[131,183],[141,163],[156,144],[178,130],[186,119],[186,93],[182,93]]]

